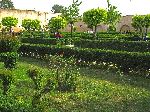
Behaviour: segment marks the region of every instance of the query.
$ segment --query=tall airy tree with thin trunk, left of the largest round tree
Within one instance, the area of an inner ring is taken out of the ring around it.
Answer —
[[[71,25],[71,37],[72,37],[72,32],[73,32],[73,25],[78,19],[80,18],[79,16],[79,6],[81,5],[82,2],[79,2],[78,0],[74,1],[69,7],[65,7],[62,10],[62,17],[64,17],[68,24]]]

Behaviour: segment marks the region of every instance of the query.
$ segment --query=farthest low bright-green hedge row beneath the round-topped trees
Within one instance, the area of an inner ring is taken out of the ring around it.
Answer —
[[[70,38],[71,34],[69,32],[61,32],[63,38]],[[73,32],[73,38],[78,37],[82,39],[95,39],[93,33],[88,32]],[[108,32],[97,32],[96,39],[124,39],[124,40],[131,40],[134,34],[121,34],[118,32],[108,33]],[[49,31],[34,31],[31,33],[29,32],[22,32],[22,38],[55,38],[54,34]],[[131,38],[130,38],[131,37]]]

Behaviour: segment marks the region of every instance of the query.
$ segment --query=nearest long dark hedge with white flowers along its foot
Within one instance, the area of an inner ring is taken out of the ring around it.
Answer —
[[[116,64],[123,72],[131,70],[149,70],[150,53],[123,52],[113,50],[100,50],[90,48],[68,48],[68,47],[47,47],[37,45],[22,45],[20,53],[29,57],[44,57],[47,55],[63,55],[64,57],[74,56],[77,60],[85,62],[105,62]]]

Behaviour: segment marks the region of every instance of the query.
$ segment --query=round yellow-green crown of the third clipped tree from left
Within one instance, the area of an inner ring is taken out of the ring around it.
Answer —
[[[53,32],[58,32],[59,29],[64,28],[67,25],[67,21],[58,16],[49,20],[48,26]]]

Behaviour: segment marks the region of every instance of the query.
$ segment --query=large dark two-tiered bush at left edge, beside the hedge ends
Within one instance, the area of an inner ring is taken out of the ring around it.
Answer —
[[[20,41],[16,37],[0,39],[0,61],[4,62],[5,68],[12,69],[16,67],[19,47]]]

